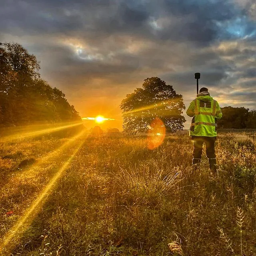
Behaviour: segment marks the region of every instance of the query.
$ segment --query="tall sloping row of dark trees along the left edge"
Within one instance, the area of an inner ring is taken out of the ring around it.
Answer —
[[[0,124],[81,120],[65,94],[40,78],[39,62],[17,43],[0,43]]]

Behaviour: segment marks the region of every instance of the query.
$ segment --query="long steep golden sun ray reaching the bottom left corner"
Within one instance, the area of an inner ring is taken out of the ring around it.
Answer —
[[[80,136],[82,134],[80,133]],[[78,138],[78,136],[76,136]],[[22,237],[23,232],[30,226],[34,218],[37,216],[38,212],[46,202],[47,196],[50,194],[52,189],[54,188],[56,182],[62,176],[62,173],[66,168],[68,168],[70,162],[77,154],[78,150],[82,147],[84,140],[80,142],[77,148],[74,150],[72,156],[70,156],[63,164],[63,166],[56,172],[54,177],[50,180],[50,182],[46,185],[43,191],[38,195],[38,197],[34,200],[30,208],[28,208],[24,215],[19,218],[19,220],[14,224],[14,226],[8,230],[8,232],[2,238],[2,242],[0,244],[0,252],[10,253],[12,248],[16,245],[18,240]]]

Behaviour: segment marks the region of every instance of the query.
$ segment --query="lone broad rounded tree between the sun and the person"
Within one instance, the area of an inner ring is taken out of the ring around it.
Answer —
[[[171,85],[158,77],[145,79],[142,88],[126,95],[120,108],[123,111],[123,128],[127,132],[151,129],[150,124],[156,117],[162,120],[166,132],[182,130],[186,122],[181,115],[185,109],[182,95],[176,94]]]

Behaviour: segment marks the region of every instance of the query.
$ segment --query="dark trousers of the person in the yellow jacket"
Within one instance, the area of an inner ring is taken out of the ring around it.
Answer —
[[[206,155],[209,160],[210,169],[216,172],[216,154],[214,144],[216,137],[206,137],[206,136],[192,136],[194,151],[193,151],[193,165],[199,165],[202,157],[203,144],[206,146]]]

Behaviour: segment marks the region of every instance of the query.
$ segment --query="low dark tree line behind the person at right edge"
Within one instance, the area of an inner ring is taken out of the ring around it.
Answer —
[[[222,118],[218,121],[218,128],[256,129],[256,111],[249,108],[221,108]]]

